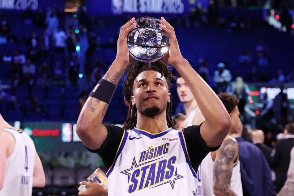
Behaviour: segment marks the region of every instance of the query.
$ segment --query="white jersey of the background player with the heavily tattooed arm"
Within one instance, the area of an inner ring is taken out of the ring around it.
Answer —
[[[202,188],[203,188],[203,195],[205,196],[214,196],[213,194],[213,165],[214,161],[211,158],[211,153],[202,160],[201,162],[202,170],[202,179],[204,181]],[[240,173],[240,161],[239,158],[234,163],[232,177],[230,182],[231,189],[238,195],[243,196],[243,189],[241,183],[241,173]]]

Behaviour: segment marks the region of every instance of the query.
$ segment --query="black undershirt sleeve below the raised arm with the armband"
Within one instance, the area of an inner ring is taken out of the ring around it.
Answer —
[[[103,160],[105,170],[108,171],[117,153],[119,144],[121,143],[122,136],[125,132],[123,128],[116,125],[104,125],[107,129],[107,137],[99,150],[90,150],[97,153]]]

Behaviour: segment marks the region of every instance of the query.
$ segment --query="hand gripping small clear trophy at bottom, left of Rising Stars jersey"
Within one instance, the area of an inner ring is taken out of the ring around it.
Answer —
[[[80,185],[86,185],[88,187],[85,191],[80,191],[79,196],[107,196],[108,190],[104,185],[100,185],[95,182],[82,181]]]

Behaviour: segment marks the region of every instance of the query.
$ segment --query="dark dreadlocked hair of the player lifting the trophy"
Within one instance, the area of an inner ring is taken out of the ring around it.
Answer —
[[[171,88],[171,81],[172,79],[175,79],[172,72],[168,69],[170,66],[166,64],[163,61],[156,61],[156,62],[139,62],[139,61],[133,61],[130,63],[130,65],[127,67],[125,73],[127,73],[127,77],[124,81],[124,84],[129,86],[129,89],[131,91],[131,95],[133,94],[133,85],[134,80],[138,76],[139,73],[147,70],[153,70],[158,71],[161,76],[164,76],[164,78],[167,81],[168,86],[168,92],[170,92]],[[170,98],[171,102],[167,103],[167,109],[166,109],[166,120],[168,127],[174,128],[174,124],[172,121],[172,97]],[[126,122],[124,123],[124,129],[132,129],[137,124],[137,107],[136,105],[130,104],[128,116],[126,118]]]

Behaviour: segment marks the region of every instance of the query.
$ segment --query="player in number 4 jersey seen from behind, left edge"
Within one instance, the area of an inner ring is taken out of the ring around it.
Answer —
[[[0,113],[0,196],[31,196],[32,187],[45,186],[45,174],[35,145]]]

